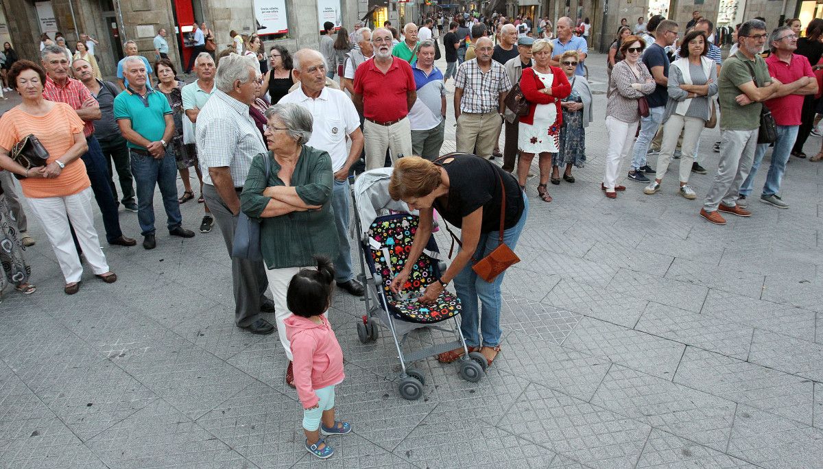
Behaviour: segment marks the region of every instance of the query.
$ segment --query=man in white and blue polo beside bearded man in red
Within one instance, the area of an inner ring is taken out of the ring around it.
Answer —
[[[424,40],[412,63],[417,100],[409,111],[412,128],[412,153],[426,160],[440,156],[446,123],[446,87],[443,73],[435,67],[435,43]]]

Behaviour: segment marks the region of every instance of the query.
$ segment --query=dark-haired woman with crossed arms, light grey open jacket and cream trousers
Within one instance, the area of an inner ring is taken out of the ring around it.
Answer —
[[[683,132],[678,193],[687,199],[697,197],[689,185],[689,174],[695,161],[695,146],[700,140],[700,132],[703,132],[712,110],[709,96],[718,93],[718,67],[713,60],[705,57],[708,52],[706,33],[693,30],[683,39],[680,58],[669,68],[669,99],[663,114],[663,145],[658,156],[657,174],[643,189],[645,194],[651,195],[660,190],[660,183],[672,162],[677,138]]]

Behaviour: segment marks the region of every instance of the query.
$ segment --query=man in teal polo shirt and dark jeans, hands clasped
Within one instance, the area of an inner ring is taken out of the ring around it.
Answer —
[[[127,141],[132,174],[137,183],[137,221],[143,235],[143,248],[156,246],[154,188],[160,187],[168,216],[169,234],[191,238],[194,233],[180,226],[177,201],[177,163],[166,146],[174,134],[169,100],[146,86],[146,65],[139,57],[123,59],[123,75],[129,86],[114,98],[114,118]]]

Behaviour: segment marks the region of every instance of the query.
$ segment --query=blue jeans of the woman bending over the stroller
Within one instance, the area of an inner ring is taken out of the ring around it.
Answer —
[[[503,242],[512,250],[517,246],[520,233],[523,232],[523,226],[526,225],[526,216],[528,216],[526,194],[523,194],[523,203],[525,204],[523,215],[520,216],[517,225],[503,232]],[[499,236],[500,232],[498,231],[481,234],[474,258],[485,258],[491,251],[494,251],[500,245]],[[454,288],[457,290],[463,308],[460,313],[460,330],[463,331],[467,346],[481,345],[480,334],[477,331],[478,326],[483,335],[482,345],[493,347],[500,344],[500,309],[503,302],[500,296],[500,284],[503,283],[504,275],[505,272],[501,273],[495,278],[495,281],[489,283],[477,276],[477,273],[472,270],[472,262],[470,261],[454,277]],[[482,305],[481,316],[477,314],[477,300],[480,300]]]

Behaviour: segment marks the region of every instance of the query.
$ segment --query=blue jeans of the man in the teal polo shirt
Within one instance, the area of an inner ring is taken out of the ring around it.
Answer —
[[[177,202],[177,161],[169,151],[159,160],[133,148],[129,149],[132,160],[132,175],[137,185],[137,221],[142,235],[154,234],[154,188],[160,188],[163,207],[168,216],[169,230],[183,223],[180,204]]]

